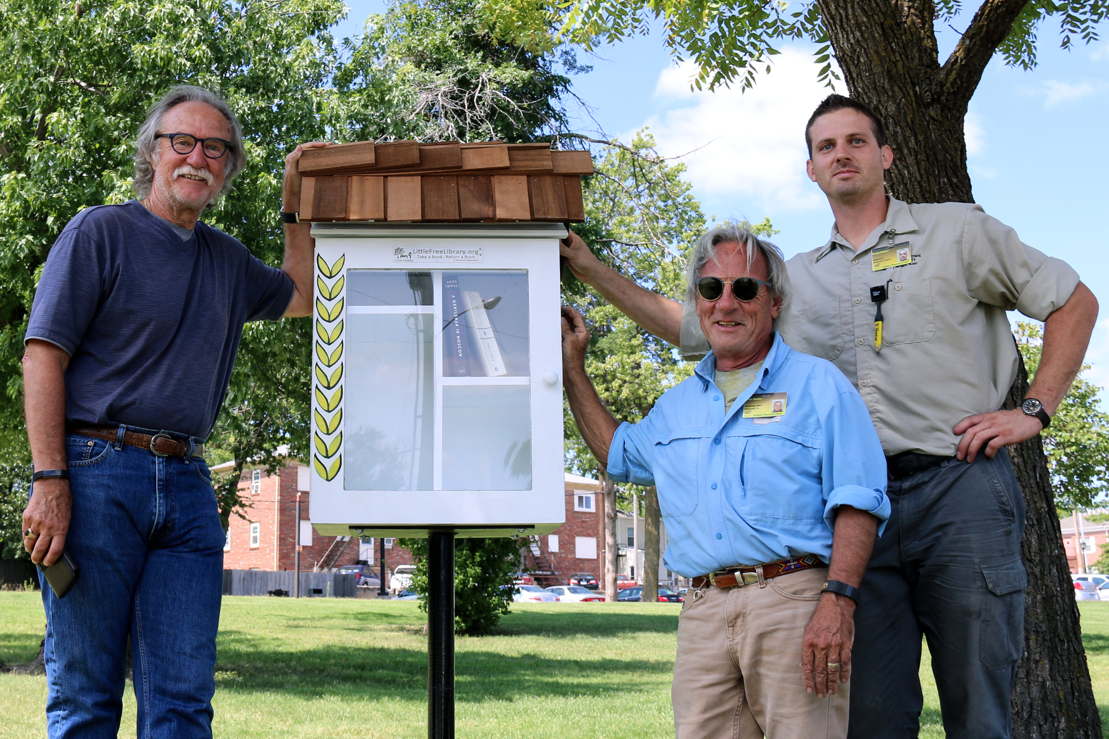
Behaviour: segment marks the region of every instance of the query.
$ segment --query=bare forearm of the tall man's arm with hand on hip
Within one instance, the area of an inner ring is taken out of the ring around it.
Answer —
[[[1070,389],[1086,357],[1098,320],[1098,300],[1079,283],[1067,302],[1044,321],[1044,350],[1028,397],[1055,413]]]

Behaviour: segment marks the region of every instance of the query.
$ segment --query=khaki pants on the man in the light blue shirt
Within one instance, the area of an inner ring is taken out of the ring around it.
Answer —
[[[743,587],[690,589],[678,622],[678,739],[842,739],[848,684],[806,692],[801,640],[827,569],[815,567]]]

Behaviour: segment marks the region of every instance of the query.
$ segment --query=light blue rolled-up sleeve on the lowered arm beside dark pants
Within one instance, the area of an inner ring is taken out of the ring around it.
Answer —
[[[886,496],[886,458],[878,433],[858,392],[838,393],[824,418],[824,522],[835,528],[841,505],[866,511],[878,519],[878,535],[889,517]]]

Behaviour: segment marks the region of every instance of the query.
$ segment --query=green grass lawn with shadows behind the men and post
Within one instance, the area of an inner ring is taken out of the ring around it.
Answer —
[[[1109,722],[1109,603],[1080,603],[1093,689]],[[679,607],[516,604],[501,634],[457,642],[460,737],[672,737]],[[217,737],[427,736],[426,637],[415,603],[225,597]],[[34,593],[0,593],[0,660],[31,659]],[[923,737],[943,737],[927,664]],[[0,674],[0,738],[42,736],[45,680]],[[134,736],[124,694],[121,736]]]

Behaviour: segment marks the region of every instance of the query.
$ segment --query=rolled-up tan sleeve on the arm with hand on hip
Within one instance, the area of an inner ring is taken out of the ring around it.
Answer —
[[[963,268],[973,298],[1046,320],[1078,286],[1078,273],[1061,259],[1024,244],[1017,232],[980,208],[967,211]]]

